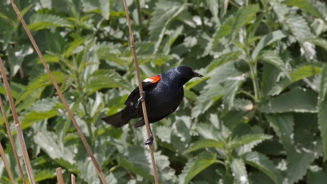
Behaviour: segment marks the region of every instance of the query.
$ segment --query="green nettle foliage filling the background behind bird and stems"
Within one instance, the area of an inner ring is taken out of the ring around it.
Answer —
[[[152,183],[145,129],[100,120],[137,86],[123,1],[15,2],[108,182]],[[205,76],[184,86],[176,112],[151,125],[161,183],[327,181],[323,1],[127,2],[143,79],[181,64]],[[71,173],[78,183],[100,183],[10,2],[0,4],[0,56],[35,179],[55,183],[60,166],[67,183]],[[15,134],[3,84],[0,94]],[[0,140],[21,183],[2,116]],[[0,177],[9,183],[2,162]]]

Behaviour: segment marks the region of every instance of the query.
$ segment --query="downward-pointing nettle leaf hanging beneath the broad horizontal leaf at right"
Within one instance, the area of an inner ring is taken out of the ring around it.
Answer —
[[[282,140],[287,155],[292,153],[293,140],[291,139],[294,132],[294,118],[291,113],[266,114],[269,125]]]

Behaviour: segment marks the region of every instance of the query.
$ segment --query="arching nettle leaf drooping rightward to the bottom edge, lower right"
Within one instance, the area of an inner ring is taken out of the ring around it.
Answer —
[[[248,164],[269,176],[276,184],[282,183],[283,178],[281,172],[276,169],[269,158],[259,152],[253,151],[243,155],[245,164]]]

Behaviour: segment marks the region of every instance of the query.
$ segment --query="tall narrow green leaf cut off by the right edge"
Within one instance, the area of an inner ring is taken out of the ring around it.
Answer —
[[[318,101],[318,124],[322,139],[323,160],[327,159],[327,65],[324,64],[321,72],[320,92]]]

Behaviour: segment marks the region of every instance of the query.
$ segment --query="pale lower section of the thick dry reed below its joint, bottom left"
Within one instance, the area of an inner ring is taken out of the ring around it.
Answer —
[[[17,116],[17,114],[16,114],[16,116]],[[31,166],[29,154],[27,152],[27,148],[25,145],[24,135],[22,134],[19,123],[16,124],[15,127],[16,127],[16,131],[17,131],[17,135],[18,135],[20,149],[22,152],[22,158],[24,159],[24,162],[25,162],[27,176],[29,177],[30,183],[35,184],[35,179],[34,179],[34,175],[33,175],[33,170],[32,170],[32,166]]]

